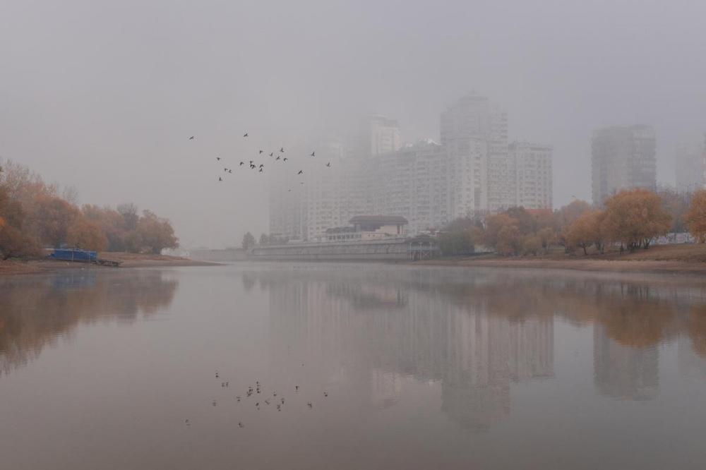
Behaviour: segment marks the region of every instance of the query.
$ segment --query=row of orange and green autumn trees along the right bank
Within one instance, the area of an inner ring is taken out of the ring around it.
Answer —
[[[445,255],[472,253],[478,245],[501,255],[538,255],[553,246],[587,255],[589,248],[647,249],[656,237],[686,230],[706,241],[706,191],[638,188],[614,194],[602,208],[574,200],[554,211],[510,207],[484,218],[456,219],[439,234],[439,245]]]

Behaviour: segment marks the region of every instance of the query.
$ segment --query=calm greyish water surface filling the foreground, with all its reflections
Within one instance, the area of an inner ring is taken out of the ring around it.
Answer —
[[[361,264],[0,279],[2,469],[703,469],[705,438],[700,279]]]

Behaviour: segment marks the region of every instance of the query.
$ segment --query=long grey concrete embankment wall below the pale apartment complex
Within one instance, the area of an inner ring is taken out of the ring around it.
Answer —
[[[252,249],[250,256],[257,260],[408,260],[409,243],[394,240],[258,246]]]

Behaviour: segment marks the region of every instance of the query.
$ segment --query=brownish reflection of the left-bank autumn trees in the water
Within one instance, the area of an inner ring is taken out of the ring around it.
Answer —
[[[157,271],[4,279],[0,284],[0,373],[25,365],[79,323],[133,322],[167,308],[176,279]]]

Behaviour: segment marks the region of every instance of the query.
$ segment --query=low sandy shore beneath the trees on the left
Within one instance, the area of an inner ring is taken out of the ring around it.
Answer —
[[[120,261],[120,267],[88,265],[84,263],[67,263],[56,260],[7,260],[0,261],[1,275],[24,275],[46,272],[56,272],[63,269],[115,270],[130,267],[176,267],[176,266],[217,266],[220,263],[196,261],[189,258],[165,255],[136,255],[133,253],[100,253],[100,258]]]

